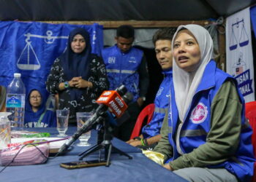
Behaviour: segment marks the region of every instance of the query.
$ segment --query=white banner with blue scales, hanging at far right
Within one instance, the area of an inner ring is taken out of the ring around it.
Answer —
[[[252,36],[249,8],[227,17],[227,73],[238,81],[245,102],[255,100]]]

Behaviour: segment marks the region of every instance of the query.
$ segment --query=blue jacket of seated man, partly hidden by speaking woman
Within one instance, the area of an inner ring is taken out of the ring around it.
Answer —
[[[159,135],[165,113],[170,103],[170,87],[173,87],[173,70],[163,71],[165,78],[163,79],[156,98],[154,100],[154,116],[151,122],[146,124],[142,129],[143,138],[150,138]]]

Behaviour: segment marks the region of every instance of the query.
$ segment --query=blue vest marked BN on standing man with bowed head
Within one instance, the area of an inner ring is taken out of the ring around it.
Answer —
[[[132,92],[134,101],[139,98],[139,74],[138,68],[143,58],[143,52],[132,47],[128,52],[121,52],[117,45],[102,50],[110,90],[124,84],[129,92]]]

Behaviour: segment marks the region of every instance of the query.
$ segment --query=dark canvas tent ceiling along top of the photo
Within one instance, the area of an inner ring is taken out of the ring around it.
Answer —
[[[0,20],[208,20],[232,15],[255,0],[1,0]]]

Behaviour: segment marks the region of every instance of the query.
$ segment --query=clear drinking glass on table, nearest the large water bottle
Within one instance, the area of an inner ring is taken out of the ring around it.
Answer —
[[[57,114],[57,130],[59,137],[66,137],[67,126],[69,124],[69,110],[56,110]]]

